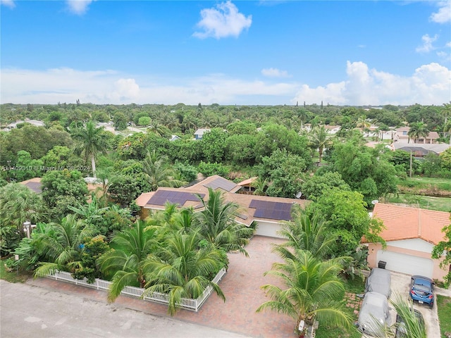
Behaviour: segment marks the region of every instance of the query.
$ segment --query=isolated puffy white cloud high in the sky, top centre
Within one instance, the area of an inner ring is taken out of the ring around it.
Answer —
[[[241,32],[252,24],[252,15],[245,16],[238,12],[237,6],[231,1],[216,5],[216,8],[202,9],[202,20],[197,23],[201,32],[194,32],[194,37],[205,39],[207,37],[238,37]]]

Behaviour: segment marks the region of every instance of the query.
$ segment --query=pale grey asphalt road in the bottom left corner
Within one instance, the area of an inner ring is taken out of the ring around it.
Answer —
[[[149,315],[116,303],[85,299],[0,280],[1,338],[245,338],[247,336]]]

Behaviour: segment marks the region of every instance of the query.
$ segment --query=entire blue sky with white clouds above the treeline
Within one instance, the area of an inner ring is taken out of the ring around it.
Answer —
[[[0,0],[1,103],[451,101],[451,0]]]

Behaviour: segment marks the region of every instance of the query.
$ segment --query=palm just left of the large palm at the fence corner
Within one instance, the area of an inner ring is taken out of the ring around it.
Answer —
[[[99,258],[102,273],[113,276],[108,300],[113,302],[127,285],[144,287],[144,263],[147,256],[158,247],[155,230],[146,227],[143,220],[135,226],[116,234],[111,240],[113,250]]]

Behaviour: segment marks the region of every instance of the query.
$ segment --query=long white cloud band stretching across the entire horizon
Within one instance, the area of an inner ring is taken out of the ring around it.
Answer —
[[[167,79],[114,70],[1,69],[2,103],[56,104],[435,104],[450,101],[451,70],[422,65],[403,77],[347,62],[346,78],[319,87],[296,81],[276,83],[230,78],[223,74]]]

